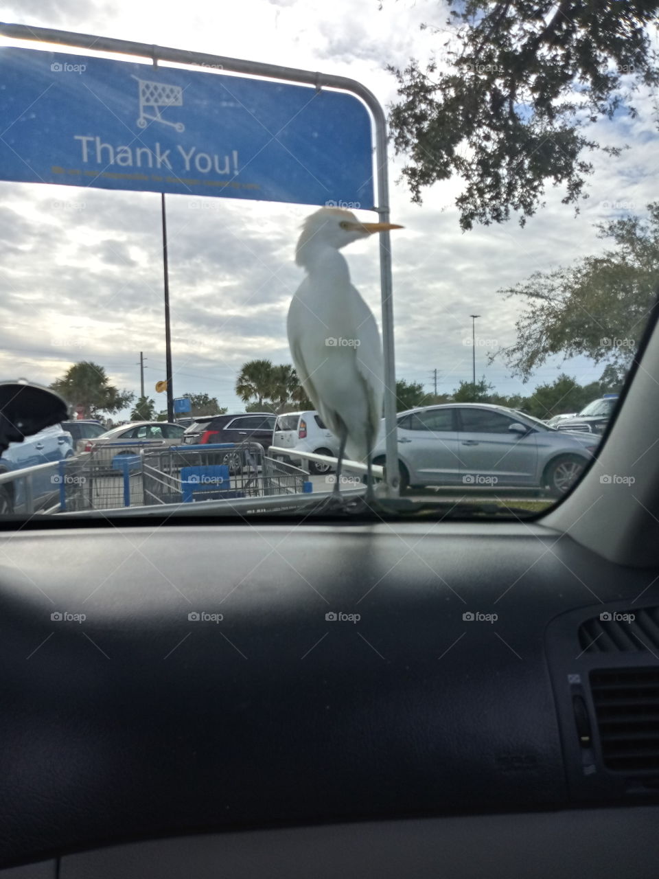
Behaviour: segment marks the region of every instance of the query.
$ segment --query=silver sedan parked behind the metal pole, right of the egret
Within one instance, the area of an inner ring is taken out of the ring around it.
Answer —
[[[529,486],[564,494],[597,448],[594,438],[555,431],[538,418],[485,403],[446,403],[397,418],[402,487]],[[384,422],[373,462],[385,463]]]

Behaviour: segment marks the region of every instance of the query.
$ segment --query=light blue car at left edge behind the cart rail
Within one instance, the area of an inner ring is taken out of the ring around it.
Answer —
[[[61,425],[45,427],[23,442],[12,442],[0,456],[0,474],[11,473],[51,461],[63,461],[73,457],[73,438]],[[50,505],[59,493],[58,474],[55,469],[35,473],[33,476],[33,501],[36,508]],[[0,483],[0,514],[20,512],[25,505],[25,486],[22,480]]]

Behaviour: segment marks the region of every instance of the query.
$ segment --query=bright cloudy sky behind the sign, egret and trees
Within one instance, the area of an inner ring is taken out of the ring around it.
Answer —
[[[321,70],[365,84],[387,106],[395,80],[387,63],[427,60],[440,39],[422,22],[441,25],[442,5],[424,0],[5,0],[4,21]],[[0,38],[0,45],[25,45]],[[44,47],[45,48],[45,47]],[[214,74],[209,74],[214,76]],[[595,156],[590,199],[575,216],[561,192],[525,229],[517,222],[460,232],[453,200],[459,185],[435,185],[423,207],[397,182],[390,156],[396,373],[431,389],[453,390],[471,378],[470,314],[477,326],[476,373],[502,393],[553,381],[561,369],[578,381],[601,373],[589,360],[542,367],[528,386],[487,352],[510,344],[519,304],[497,290],[532,272],[603,248],[593,224],[655,198],[656,122],[649,100],[636,120],[599,126],[600,141],[628,143],[618,159]],[[164,377],[163,267],[160,198],[155,193],[0,182],[0,374],[48,383],[76,360],[105,367],[112,383],[139,391],[139,354],[146,385]],[[206,391],[230,410],[243,362],[290,362],[286,311],[301,281],[293,263],[302,220],[314,208],[267,201],[169,195],[171,333],[175,395]],[[373,214],[358,212],[364,219]],[[377,242],[344,251],[353,282],[380,322]],[[466,342],[469,345],[466,345]]]

